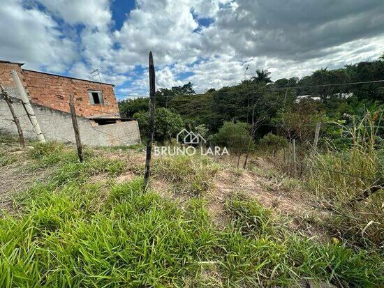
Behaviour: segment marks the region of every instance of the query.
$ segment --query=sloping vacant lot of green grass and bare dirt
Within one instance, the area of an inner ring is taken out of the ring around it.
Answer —
[[[383,254],[327,229],[334,216],[298,180],[253,156],[0,144],[1,287],[379,287]],[[304,286],[305,287],[305,286]]]

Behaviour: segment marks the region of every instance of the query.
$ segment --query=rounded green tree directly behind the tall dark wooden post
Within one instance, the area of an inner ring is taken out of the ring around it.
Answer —
[[[133,117],[138,120],[140,132],[145,135],[148,129],[148,113],[138,112]],[[182,116],[164,107],[156,109],[155,123],[154,139],[158,142],[164,142],[176,137],[177,133],[184,128]]]

